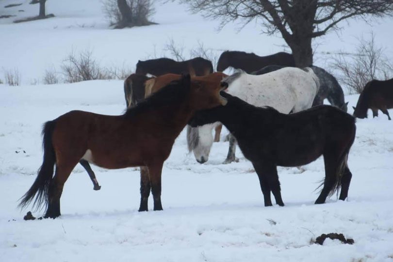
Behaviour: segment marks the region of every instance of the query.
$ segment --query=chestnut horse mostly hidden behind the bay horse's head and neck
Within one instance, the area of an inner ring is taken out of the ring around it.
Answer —
[[[162,87],[169,84],[171,81],[180,79],[180,77],[181,76],[177,74],[165,74],[160,77],[154,77],[148,79],[145,82],[145,97],[149,96],[151,93],[157,92]],[[203,77],[191,77],[191,79],[193,81],[206,79],[206,80],[216,81],[217,83],[220,83],[224,77],[228,77],[228,75],[221,72],[216,72]],[[221,129],[222,129],[222,124],[215,127],[214,142],[220,141]]]

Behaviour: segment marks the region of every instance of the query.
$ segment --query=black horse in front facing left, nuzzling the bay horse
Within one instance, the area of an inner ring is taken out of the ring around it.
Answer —
[[[355,139],[354,117],[325,105],[282,114],[274,108],[254,107],[229,93],[222,92],[222,96],[228,100],[225,107],[199,111],[189,124],[198,126],[219,121],[235,135],[244,156],[257,172],[265,206],[272,205],[270,192],[278,205],[284,205],[277,166],[302,166],[321,155],[325,162],[325,181],[315,204],[325,203],[340,187],[339,199],[347,198],[352,177],[347,158]]]

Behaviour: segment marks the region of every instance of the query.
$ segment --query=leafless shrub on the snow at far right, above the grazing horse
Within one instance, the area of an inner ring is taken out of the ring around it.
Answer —
[[[334,58],[332,66],[339,72],[338,80],[350,93],[360,93],[372,79],[391,78],[393,64],[383,52],[384,49],[376,45],[373,33],[369,40],[360,38],[355,54],[348,57],[341,53]]]

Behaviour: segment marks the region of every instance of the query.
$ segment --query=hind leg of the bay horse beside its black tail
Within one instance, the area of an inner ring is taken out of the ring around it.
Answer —
[[[74,164],[60,165],[56,164],[55,175],[50,181],[48,192],[48,207],[45,218],[56,218],[60,216],[60,197],[62,196],[64,183],[66,183],[71,171],[78,162]]]

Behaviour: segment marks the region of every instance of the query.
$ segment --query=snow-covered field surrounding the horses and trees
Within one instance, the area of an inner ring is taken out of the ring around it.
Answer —
[[[24,5],[16,8],[26,12],[13,19],[38,12],[27,0],[19,2]],[[282,50],[278,37],[258,34],[254,25],[239,34],[235,25],[217,32],[217,22],[189,15],[175,3],[157,3],[153,20],[159,25],[120,31],[107,28],[99,5],[87,8],[97,1],[81,1],[85,6],[79,2],[49,0],[48,13],[56,17],[45,21],[11,24],[11,18],[0,19],[0,70],[17,67],[23,82],[19,87],[0,85],[0,262],[393,261],[393,122],[381,112],[378,118],[357,120],[347,201],[332,197],[326,204],[313,204],[313,190],[324,178],[323,160],[318,159],[302,173],[278,168],[286,206],[264,207],[257,175],[239,149],[239,163],[223,165],[228,142],[214,143],[209,161],[201,165],[187,153],[182,132],[164,163],[164,211],[137,211],[138,170],[93,166],[102,185],[94,191],[87,173],[77,166],[64,188],[62,216],[24,221],[28,210],[16,206],[42,162],[42,123],[72,109],[111,115],[124,110],[119,80],[30,85],[51,64],[58,67],[73,46],[94,48],[102,63],[130,66],[151,55],[154,46],[160,53],[169,38],[187,48],[200,40],[217,52],[229,48],[265,55]],[[0,0],[0,12],[9,3],[14,1]],[[377,42],[387,47],[389,57],[393,36],[383,32],[391,29],[392,21],[373,24]],[[328,51],[350,51],[355,38],[372,27],[362,21],[344,26],[341,34],[320,40],[316,65],[324,66]],[[345,97],[349,113],[357,99]],[[343,233],[355,244],[312,244],[330,232]]]

